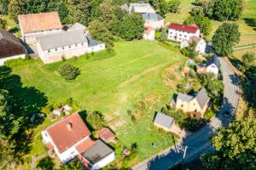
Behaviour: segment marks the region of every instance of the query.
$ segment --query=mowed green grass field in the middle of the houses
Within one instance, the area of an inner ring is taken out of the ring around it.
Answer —
[[[101,111],[122,143],[128,147],[138,144],[137,161],[172,145],[170,133],[159,132],[153,119],[154,111],[160,111],[175,93],[181,75],[179,66],[185,62],[177,49],[164,48],[158,42],[116,42],[113,54],[103,51],[66,62],[81,71],[74,81],[67,82],[58,74],[62,61],[44,65],[39,59],[31,59],[10,66],[24,86],[43,92],[49,104],[57,105],[72,97],[81,110]],[[128,110],[136,116],[136,122],[131,121]],[[46,152],[40,131],[50,123],[45,121],[34,129],[29,156]]]

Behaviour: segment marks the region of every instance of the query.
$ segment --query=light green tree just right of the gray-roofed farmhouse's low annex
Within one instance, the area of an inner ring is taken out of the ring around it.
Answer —
[[[108,28],[104,26],[102,21],[93,20],[90,22],[88,29],[92,37],[96,38],[96,40],[105,42],[107,48],[113,50],[113,34],[108,31]]]

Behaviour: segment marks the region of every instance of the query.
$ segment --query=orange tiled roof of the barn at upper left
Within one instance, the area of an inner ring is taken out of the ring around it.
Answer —
[[[57,12],[18,15],[20,29],[24,33],[48,31],[62,28]]]

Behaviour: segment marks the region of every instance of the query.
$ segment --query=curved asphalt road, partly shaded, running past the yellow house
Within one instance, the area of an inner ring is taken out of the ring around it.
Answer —
[[[224,104],[216,116],[213,116],[211,122],[205,127],[202,127],[197,132],[192,133],[176,144],[176,148],[173,146],[138,163],[135,167],[132,167],[133,170],[164,170],[174,167],[183,161],[183,149],[185,146],[188,146],[185,158],[186,162],[198,159],[202,153],[213,151],[209,137],[212,136],[213,133],[216,133],[216,127],[226,127],[228,125],[228,122],[230,122],[234,116],[239,101],[238,77],[236,77],[234,71],[231,70],[224,59],[219,58],[219,61],[223,72]],[[231,115],[228,117],[224,116],[224,111],[230,111]]]

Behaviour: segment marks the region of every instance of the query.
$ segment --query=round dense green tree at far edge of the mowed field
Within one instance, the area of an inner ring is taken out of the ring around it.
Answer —
[[[144,21],[141,14],[126,14],[120,26],[120,37],[127,41],[143,38]]]

